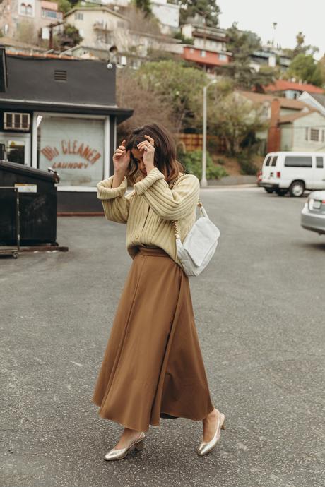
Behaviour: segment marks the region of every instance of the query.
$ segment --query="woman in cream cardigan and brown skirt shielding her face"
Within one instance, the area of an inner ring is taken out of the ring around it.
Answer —
[[[105,459],[141,450],[150,424],[178,417],[203,421],[196,451],[206,455],[220,438],[225,415],[211,402],[172,226],[178,221],[183,241],[196,219],[199,180],[182,172],[175,143],[158,124],[132,131],[113,162],[114,176],[98,183],[98,198],[107,220],[127,224],[133,262],[92,399],[101,417],[124,426]],[[127,179],[133,191],[125,195]]]

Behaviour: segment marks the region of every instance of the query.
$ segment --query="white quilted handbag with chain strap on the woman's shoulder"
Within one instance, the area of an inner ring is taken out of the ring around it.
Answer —
[[[179,177],[173,181],[172,186]],[[198,206],[201,210],[201,217],[196,220],[183,242],[179,236],[177,222],[172,222],[176,238],[177,257],[188,276],[197,276],[206,268],[215,253],[220,236],[220,230],[211,222],[200,200]]]

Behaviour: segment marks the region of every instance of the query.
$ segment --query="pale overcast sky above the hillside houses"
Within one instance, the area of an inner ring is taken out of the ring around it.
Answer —
[[[281,47],[295,47],[295,36],[302,30],[305,44],[319,47],[315,57],[325,53],[325,0],[217,0],[222,11],[221,28],[238,22],[240,30],[252,30],[262,42],[275,38]],[[277,22],[276,32],[273,22]]]

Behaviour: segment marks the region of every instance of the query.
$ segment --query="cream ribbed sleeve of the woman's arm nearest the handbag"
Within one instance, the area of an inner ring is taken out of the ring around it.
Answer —
[[[173,189],[170,189],[164,175],[155,167],[148,176],[134,184],[134,190],[143,196],[159,217],[164,220],[181,220],[189,214],[189,209],[195,206],[199,198],[200,184],[194,174],[186,174],[177,181]]]

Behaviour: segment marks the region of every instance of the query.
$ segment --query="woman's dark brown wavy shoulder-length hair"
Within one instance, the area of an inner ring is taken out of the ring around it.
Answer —
[[[130,150],[131,160],[126,171],[126,177],[131,184],[143,179],[143,175],[138,169],[138,163],[132,155],[131,149],[137,149],[137,145],[143,140],[147,140],[146,136],[152,137],[155,145],[155,159],[154,164],[160,172],[165,176],[165,181],[170,183],[177,178],[179,172],[185,172],[183,164],[176,158],[176,145],[172,135],[167,128],[160,124],[146,124],[141,127],[136,127],[126,137],[125,147]]]

